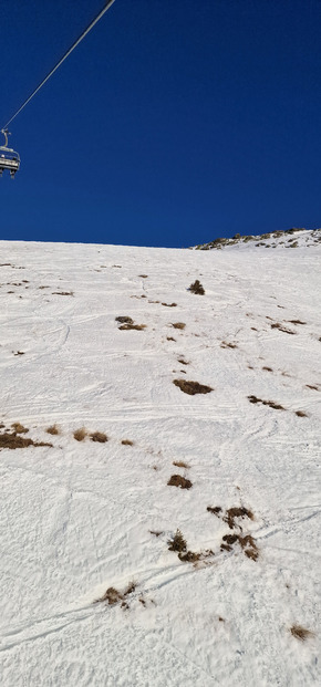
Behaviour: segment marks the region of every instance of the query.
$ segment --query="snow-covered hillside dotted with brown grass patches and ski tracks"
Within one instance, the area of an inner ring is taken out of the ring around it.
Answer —
[[[0,242],[1,685],[320,684],[310,236]]]

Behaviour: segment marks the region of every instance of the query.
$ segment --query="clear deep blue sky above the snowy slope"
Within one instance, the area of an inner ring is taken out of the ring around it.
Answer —
[[[103,6],[1,0],[0,127]],[[320,227],[320,0],[115,0],[10,126],[0,238]]]

